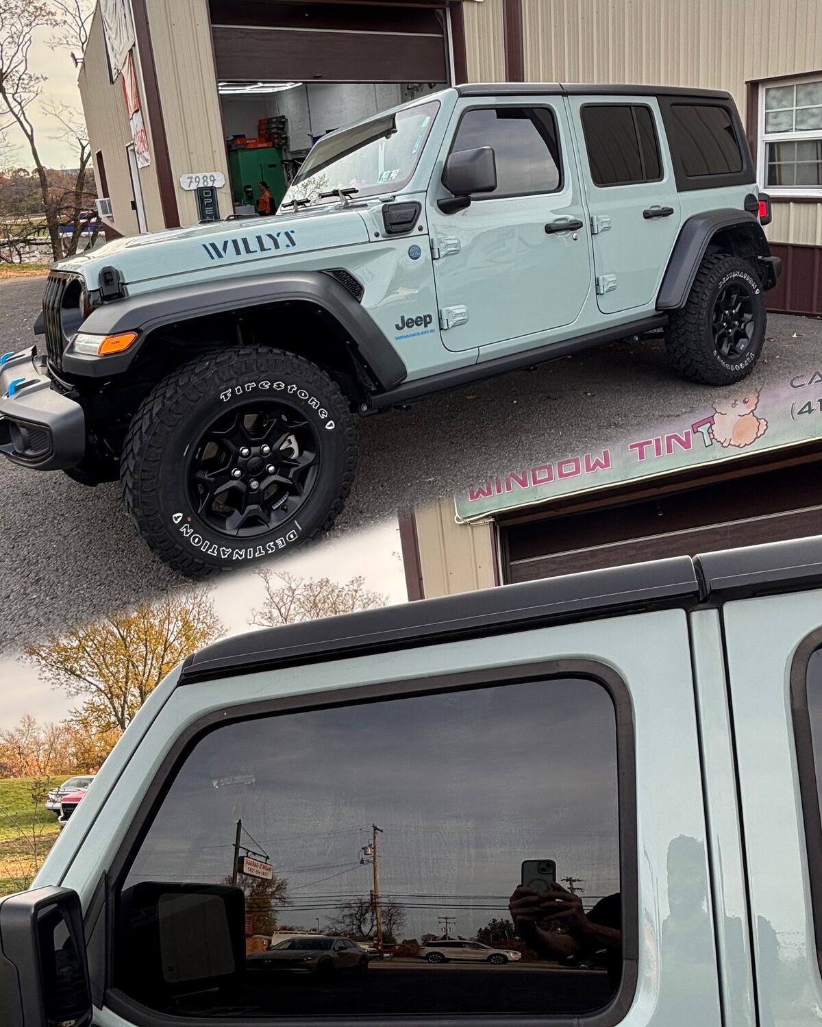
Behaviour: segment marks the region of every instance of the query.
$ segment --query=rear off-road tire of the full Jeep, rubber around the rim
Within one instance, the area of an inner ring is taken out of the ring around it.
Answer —
[[[711,319],[719,293],[734,281],[750,290],[754,322],[746,351],[739,358],[729,360],[716,347]],[[671,364],[683,377],[705,385],[731,385],[741,381],[759,358],[766,321],[765,291],[751,264],[741,257],[711,254],[700,265],[686,305],[670,314],[665,344]]]

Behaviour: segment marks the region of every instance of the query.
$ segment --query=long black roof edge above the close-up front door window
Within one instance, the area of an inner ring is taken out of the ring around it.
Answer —
[[[585,571],[235,636],[189,656],[179,684],[700,598],[690,557]]]

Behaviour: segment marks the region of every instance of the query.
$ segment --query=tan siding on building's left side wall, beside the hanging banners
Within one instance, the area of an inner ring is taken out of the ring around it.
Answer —
[[[140,81],[142,82],[142,78]],[[138,222],[136,215],[131,208],[133,192],[126,156],[126,147],[131,142],[131,129],[126,115],[122,84],[119,79],[114,83],[109,81],[106,43],[99,11],[95,11],[91,21],[78,85],[91,152],[95,156],[94,173],[97,184],[101,180],[100,168],[96,166],[99,150],[103,152],[103,161],[106,165],[109,197],[114,213],[114,218],[109,224],[121,235],[135,235]],[[140,183],[149,230],[161,229],[164,224],[154,164],[141,169]]]

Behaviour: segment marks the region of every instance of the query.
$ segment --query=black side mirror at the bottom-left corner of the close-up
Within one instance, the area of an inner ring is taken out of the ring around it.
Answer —
[[[0,901],[3,1027],[88,1027],[92,1012],[77,892],[34,888]]]

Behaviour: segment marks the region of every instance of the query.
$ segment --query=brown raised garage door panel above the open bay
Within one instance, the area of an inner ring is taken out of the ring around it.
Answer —
[[[218,78],[445,83],[444,7],[210,0]]]

